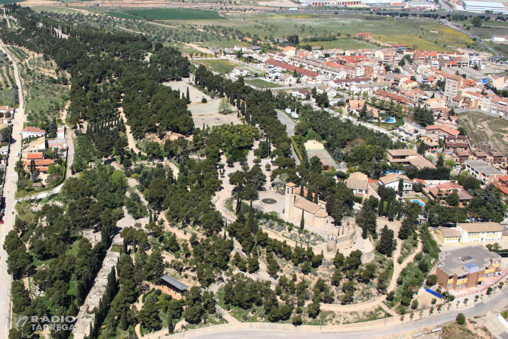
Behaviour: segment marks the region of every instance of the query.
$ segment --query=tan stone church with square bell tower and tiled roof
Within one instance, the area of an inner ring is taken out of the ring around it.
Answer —
[[[293,182],[286,184],[284,218],[295,219],[298,222],[303,218],[306,226],[324,227],[328,213],[326,208],[319,204],[308,201],[296,193],[297,185]],[[299,225],[299,224],[298,224]]]

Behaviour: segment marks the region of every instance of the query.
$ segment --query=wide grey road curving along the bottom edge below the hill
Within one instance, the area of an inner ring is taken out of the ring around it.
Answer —
[[[425,318],[421,320],[416,320],[412,322],[406,322],[403,324],[393,325],[389,327],[375,328],[373,329],[362,329],[359,330],[360,327],[353,328],[342,328],[341,332],[333,332],[333,333],[319,333],[319,327],[315,326],[314,328],[306,328],[306,332],[301,332],[301,327],[293,327],[288,326],[290,330],[277,330],[276,327],[281,327],[280,324],[272,324],[273,329],[264,330],[264,329],[249,329],[247,324],[247,328],[245,329],[235,329],[235,330],[224,330],[217,331],[215,333],[204,333],[198,334],[196,332],[193,333],[192,337],[200,337],[200,338],[209,338],[209,339],[271,339],[271,338],[280,338],[280,339],[370,339],[370,338],[382,338],[400,335],[402,333],[407,333],[411,331],[417,331],[423,328],[430,327],[438,327],[441,324],[454,321],[457,317],[457,314],[463,313],[466,318],[473,317],[475,315],[485,314],[495,307],[501,306],[508,302],[508,289],[504,289],[502,292],[496,294],[495,296],[489,298],[486,301],[480,302],[478,304],[474,304],[472,306],[468,306],[464,309],[450,311],[444,314],[436,314],[433,317]],[[361,324],[359,324],[361,326]],[[372,326],[374,327],[374,326]],[[323,327],[324,329],[324,327]],[[205,332],[206,329],[203,329],[202,332]]]

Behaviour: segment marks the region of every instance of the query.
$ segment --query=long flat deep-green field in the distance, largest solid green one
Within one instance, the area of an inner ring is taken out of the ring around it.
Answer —
[[[224,20],[217,11],[157,8],[147,10],[122,11],[123,13],[151,20]],[[130,19],[130,18],[129,18]]]

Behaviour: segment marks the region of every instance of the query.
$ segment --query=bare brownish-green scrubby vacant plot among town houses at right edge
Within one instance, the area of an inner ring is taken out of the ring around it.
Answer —
[[[480,111],[457,113],[460,125],[466,129],[476,150],[508,152],[508,121]]]

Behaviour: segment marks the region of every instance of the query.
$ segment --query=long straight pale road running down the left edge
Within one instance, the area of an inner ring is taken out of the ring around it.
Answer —
[[[0,242],[4,243],[5,236],[9,233],[10,230],[13,229],[14,226],[14,192],[16,192],[16,181],[17,174],[14,170],[14,166],[16,165],[16,151],[21,151],[21,129],[23,128],[23,118],[24,118],[24,102],[23,102],[23,94],[21,90],[21,81],[19,80],[18,74],[18,66],[14,62],[12,56],[7,52],[6,49],[0,47],[2,52],[7,53],[7,56],[10,60],[13,61],[12,66],[14,67],[14,78],[16,80],[16,85],[18,85],[18,96],[19,96],[19,108],[16,109],[16,113],[14,113],[13,130],[12,130],[12,139],[11,139],[11,150],[9,153],[8,163],[7,163],[7,176],[6,182],[4,186],[4,198],[3,203],[5,204],[5,217],[4,217],[4,225],[0,227]],[[0,328],[3,328],[1,337],[7,338],[9,333],[10,326],[10,289],[11,289],[11,275],[7,274],[7,253],[3,248],[0,248]]]

